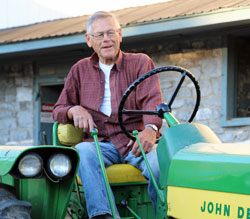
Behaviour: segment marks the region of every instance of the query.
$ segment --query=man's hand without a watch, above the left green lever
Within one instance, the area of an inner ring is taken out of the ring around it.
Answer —
[[[69,109],[67,116],[74,121],[76,128],[82,128],[83,132],[90,132],[96,127],[92,116],[82,106],[73,106]]]

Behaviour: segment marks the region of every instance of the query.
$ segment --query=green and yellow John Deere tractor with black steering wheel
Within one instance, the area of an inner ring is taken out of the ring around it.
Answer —
[[[160,104],[155,111],[124,109],[138,84],[168,71],[180,73],[181,79],[167,104]],[[194,84],[196,102],[188,122],[180,124],[171,114],[171,106],[186,77]],[[156,216],[147,193],[148,181],[128,164],[105,169],[98,131],[92,131],[113,218],[118,217],[109,184],[121,218],[250,219],[250,145],[222,144],[207,126],[190,123],[199,103],[197,80],[188,70],[175,66],[146,73],[129,86],[121,99],[119,124],[130,139],[138,141],[141,150],[137,131],[131,134],[123,124],[124,114],[158,115],[169,126],[157,146],[160,180],[153,180],[158,194]],[[77,177],[79,156],[70,147],[81,139],[81,130],[56,122],[51,146],[0,146],[0,219],[88,218]],[[142,155],[151,173],[143,150]]]

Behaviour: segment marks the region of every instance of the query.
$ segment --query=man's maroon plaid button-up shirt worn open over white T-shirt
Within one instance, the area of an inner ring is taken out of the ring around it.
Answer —
[[[98,61],[98,56],[94,53],[91,57],[78,61],[71,68],[64,89],[54,106],[53,118],[60,123],[70,123],[67,111],[75,105],[83,106],[97,125],[99,141],[111,141],[125,156],[130,150],[126,146],[129,138],[121,131],[118,124],[118,106],[128,86],[155,66],[145,54],[119,52],[110,72],[112,112],[107,116],[100,111],[104,97],[105,76]],[[129,95],[124,108],[155,110],[160,103],[159,76],[154,75],[142,82],[136,91]],[[160,128],[162,124],[160,118],[152,115],[123,115],[123,121],[128,131],[141,131],[145,124],[155,124]],[[93,141],[93,138],[90,134],[86,134],[83,141]]]

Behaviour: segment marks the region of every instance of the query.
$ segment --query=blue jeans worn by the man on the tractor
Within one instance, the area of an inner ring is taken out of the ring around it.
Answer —
[[[100,148],[106,167],[112,164],[127,163],[142,171],[142,175],[146,179],[149,179],[148,192],[154,209],[156,209],[157,194],[153,186],[153,182],[150,179],[150,175],[143,157],[140,156],[135,158],[131,152],[129,152],[126,157],[123,157],[111,142],[100,142]],[[78,175],[83,183],[89,217],[92,218],[94,216],[103,214],[112,215],[104,180],[102,177],[101,167],[98,161],[95,143],[82,142],[76,145],[76,149],[80,155]],[[156,181],[159,182],[160,169],[158,165],[156,149],[153,149],[150,153],[147,153],[146,156],[148,158],[153,175]],[[117,215],[119,215],[118,212]]]

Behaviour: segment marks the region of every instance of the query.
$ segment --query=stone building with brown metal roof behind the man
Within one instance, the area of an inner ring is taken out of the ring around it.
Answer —
[[[196,76],[201,103],[195,122],[223,142],[250,139],[250,1],[173,0],[113,13],[122,24],[122,50],[147,53],[156,67],[177,65]],[[0,30],[0,145],[43,144],[43,131],[51,142],[51,108],[67,73],[92,53],[84,39],[86,19]],[[160,78],[167,102],[179,75]],[[173,114],[187,121],[195,98],[185,79]]]

